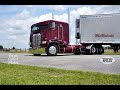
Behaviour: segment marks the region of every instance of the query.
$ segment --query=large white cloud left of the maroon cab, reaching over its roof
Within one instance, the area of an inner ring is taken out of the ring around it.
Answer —
[[[17,48],[29,48],[28,43],[31,25],[49,19],[52,19],[52,13],[41,15],[39,17],[32,17],[30,11],[24,9],[16,16],[4,20],[4,23],[0,25],[1,27],[4,27],[4,32],[1,32],[6,35],[9,48],[12,46],[17,46]]]

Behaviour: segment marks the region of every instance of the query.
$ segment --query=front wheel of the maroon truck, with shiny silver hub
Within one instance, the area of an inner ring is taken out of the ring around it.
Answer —
[[[50,44],[47,47],[47,55],[48,56],[56,56],[58,53],[58,47],[56,44]]]

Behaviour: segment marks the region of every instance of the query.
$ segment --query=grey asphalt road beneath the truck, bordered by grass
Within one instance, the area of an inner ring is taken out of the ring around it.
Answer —
[[[113,57],[115,62],[112,64],[103,64],[100,59],[106,56]],[[0,53],[0,62],[120,74],[120,55],[63,54],[58,56],[33,56],[32,54],[26,53]]]

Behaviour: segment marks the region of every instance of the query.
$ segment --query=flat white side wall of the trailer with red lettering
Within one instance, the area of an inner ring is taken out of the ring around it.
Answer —
[[[120,14],[80,15],[80,43],[120,44]]]

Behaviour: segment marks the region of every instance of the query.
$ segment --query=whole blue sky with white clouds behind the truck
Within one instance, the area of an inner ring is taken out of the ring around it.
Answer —
[[[52,19],[68,22],[70,10],[71,42],[75,43],[75,19],[79,15],[120,13],[120,5],[0,5],[0,45],[29,48],[32,24]]]

